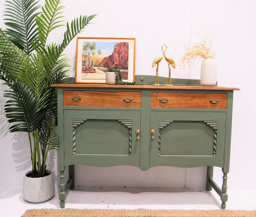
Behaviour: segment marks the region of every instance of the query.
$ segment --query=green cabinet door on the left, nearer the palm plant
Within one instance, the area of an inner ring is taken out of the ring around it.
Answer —
[[[64,110],[65,165],[140,166],[140,111]]]

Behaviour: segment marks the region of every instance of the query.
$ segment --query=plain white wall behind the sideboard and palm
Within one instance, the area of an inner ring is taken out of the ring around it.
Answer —
[[[43,1],[41,1],[43,4]],[[200,63],[192,70],[181,70],[179,59],[188,40],[199,40],[196,32],[213,33],[218,42],[218,85],[238,87],[234,93],[233,126],[228,188],[255,189],[255,1],[227,0],[63,0],[66,21],[80,14],[98,14],[80,37],[136,38],[136,75],[155,75],[152,61],[161,55],[161,46],[176,62],[172,77],[200,79]],[[4,1],[0,0],[0,26],[3,27]],[[64,30],[63,30],[64,31]],[[61,29],[52,35],[61,41]],[[67,47],[70,58],[69,75],[75,76],[76,40]],[[166,66],[159,68],[167,76]],[[26,134],[9,133],[10,125],[4,114],[3,91],[0,86],[0,185],[21,185],[24,173],[30,169]],[[48,163],[58,180],[57,156]],[[94,168],[76,166],[79,186],[138,186],[138,187],[198,187],[205,186],[206,168],[156,167],[147,171],[129,166]],[[215,171],[215,170],[214,170]],[[214,178],[222,183],[221,169]]]

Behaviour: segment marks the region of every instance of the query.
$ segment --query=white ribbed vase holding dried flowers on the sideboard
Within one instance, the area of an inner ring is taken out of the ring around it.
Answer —
[[[214,86],[217,82],[217,61],[204,59],[201,64],[201,80],[203,86]]]

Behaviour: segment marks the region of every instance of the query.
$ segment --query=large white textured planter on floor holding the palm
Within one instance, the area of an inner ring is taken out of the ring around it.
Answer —
[[[46,170],[50,175],[40,178],[31,178],[24,175],[22,195],[25,200],[31,203],[41,203],[52,198],[55,194],[54,179],[51,171]]]

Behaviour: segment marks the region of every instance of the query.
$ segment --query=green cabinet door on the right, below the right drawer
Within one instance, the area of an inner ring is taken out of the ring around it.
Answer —
[[[226,112],[151,111],[150,167],[223,167]]]

